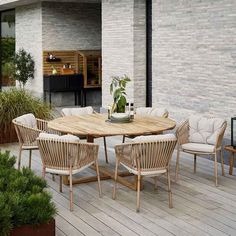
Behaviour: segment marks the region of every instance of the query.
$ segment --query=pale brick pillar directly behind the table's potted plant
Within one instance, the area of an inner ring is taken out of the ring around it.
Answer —
[[[145,105],[145,1],[102,0],[102,104],[112,103],[111,76],[128,75],[127,99]]]

